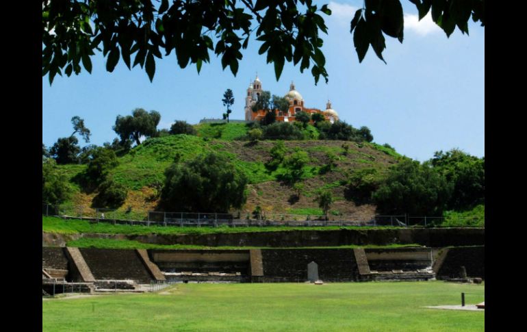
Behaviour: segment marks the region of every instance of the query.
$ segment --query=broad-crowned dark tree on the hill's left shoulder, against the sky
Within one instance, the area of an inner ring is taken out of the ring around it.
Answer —
[[[136,108],[131,116],[118,115],[113,129],[120,137],[121,142],[133,140],[139,145],[142,136],[155,136],[159,120],[161,120],[159,112],[150,111],[148,113],[142,108]]]

